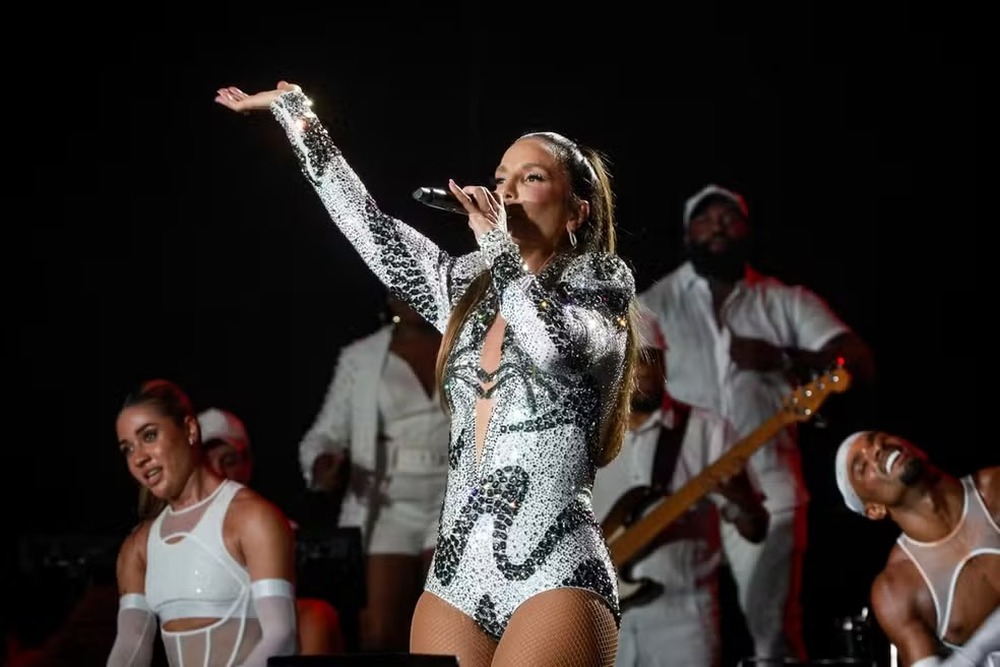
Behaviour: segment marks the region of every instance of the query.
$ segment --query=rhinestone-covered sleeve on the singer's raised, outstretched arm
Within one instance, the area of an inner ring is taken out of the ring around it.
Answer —
[[[303,93],[283,93],[271,112],[284,128],[302,173],[361,259],[393,294],[444,331],[452,306],[486,269],[480,254],[453,257],[379,210]]]

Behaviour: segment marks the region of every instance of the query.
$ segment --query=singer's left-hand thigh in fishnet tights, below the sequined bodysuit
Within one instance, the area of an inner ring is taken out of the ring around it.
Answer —
[[[420,596],[413,612],[410,653],[453,655],[462,667],[490,667],[496,646],[460,609],[427,591]]]

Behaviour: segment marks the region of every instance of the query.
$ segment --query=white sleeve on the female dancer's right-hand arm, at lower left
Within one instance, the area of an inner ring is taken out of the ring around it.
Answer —
[[[275,655],[298,653],[295,587],[285,579],[259,579],[250,585],[261,638],[241,667],[267,667]]]

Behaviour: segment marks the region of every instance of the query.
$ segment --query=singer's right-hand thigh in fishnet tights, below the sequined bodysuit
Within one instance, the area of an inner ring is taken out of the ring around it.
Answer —
[[[493,667],[612,667],[618,624],[608,605],[580,588],[532,596],[514,610]]]

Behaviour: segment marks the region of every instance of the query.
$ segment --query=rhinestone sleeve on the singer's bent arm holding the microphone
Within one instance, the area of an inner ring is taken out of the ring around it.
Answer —
[[[580,255],[546,286],[524,267],[507,232],[494,229],[479,244],[491,267],[500,313],[539,368],[573,372],[602,360],[621,361],[635,296],[635,279],[621,258]]]

